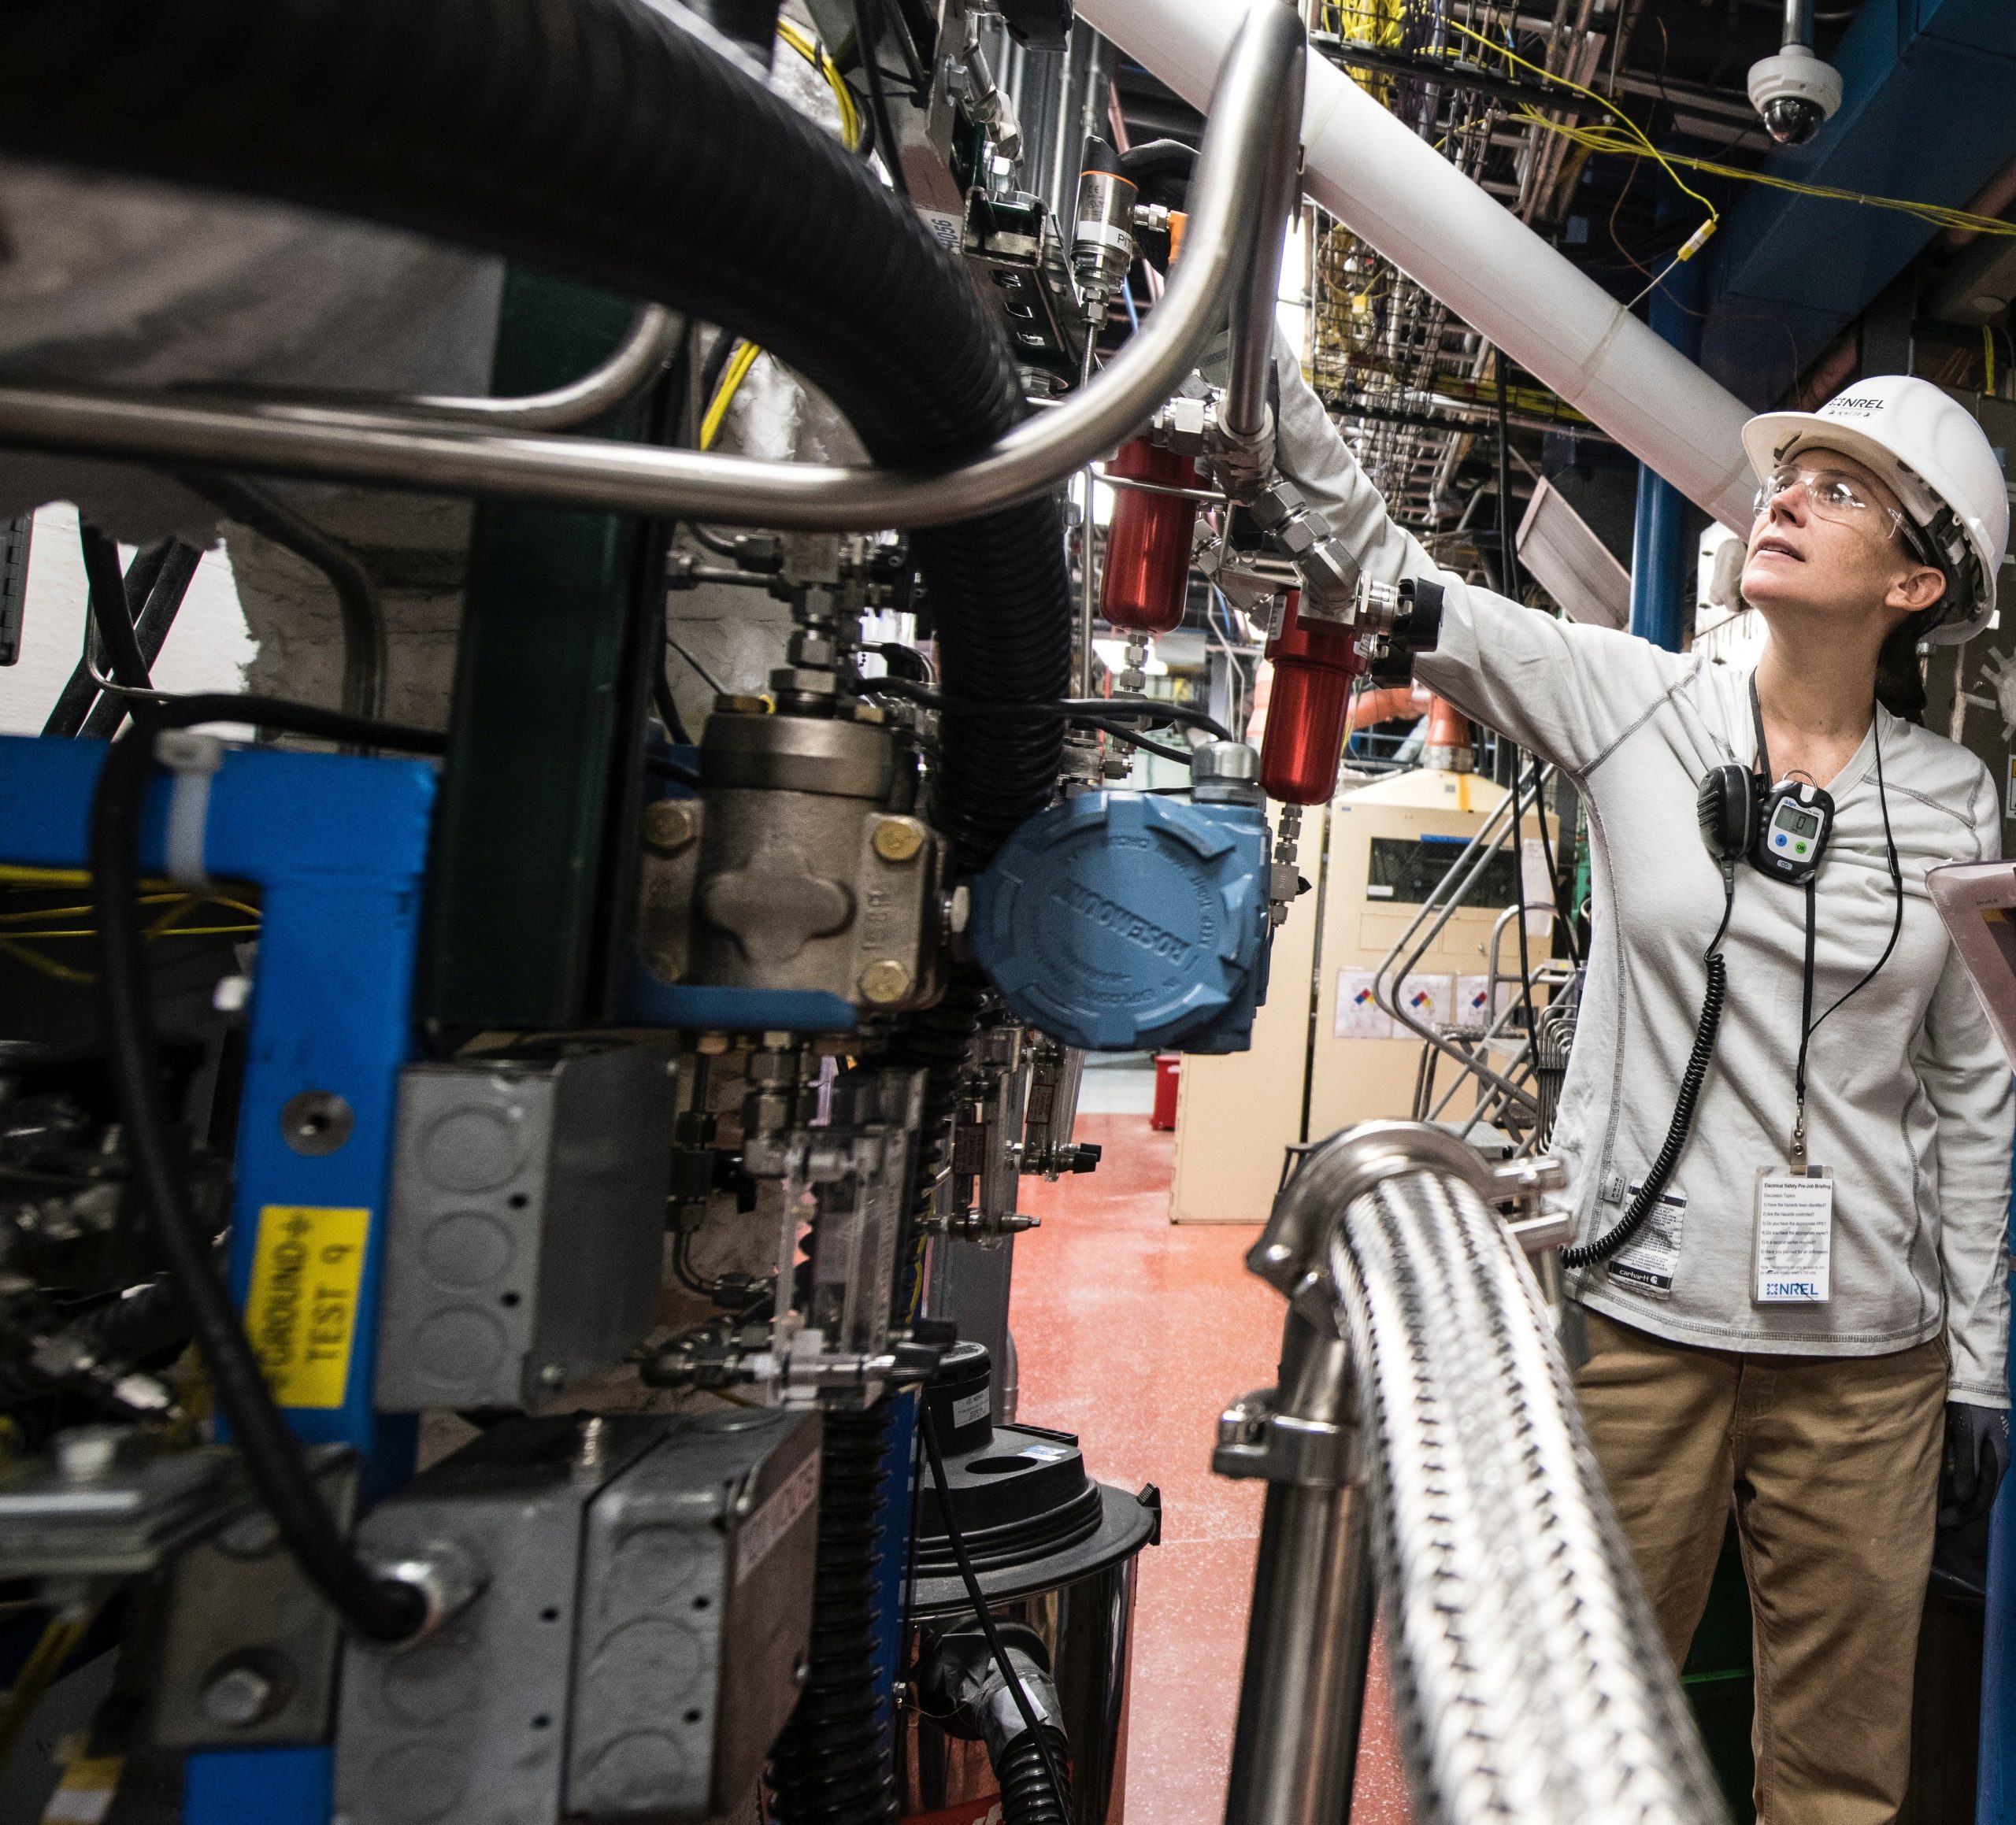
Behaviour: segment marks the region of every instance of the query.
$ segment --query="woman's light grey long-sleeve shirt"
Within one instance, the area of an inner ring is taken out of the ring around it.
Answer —
[[[1415,676],[1574,782],[1589,817],[1593,911],[1574,1049],[1552,1149],[1577,1236],[1611,1228],[1665,1141],[1722,918],[1722,873],[1695,788],[1748,766],[1750,674],[1556,621],[1439,571],[1351,460],[1292,357],[1276,359],[1282,470],[1377,579],[1433,577],[1441,639]],[[1893,889],[1877,797],[1903,869],[1903,930],[1883,970],[1812,1035],[1806,1151],[1833,1170],[1831,1299],[1752,1301],[1756,1174],[1784,1170],[1800,1037],[1806,895],[1738,867],[1724,940],[1728,1002],[1693,1131],[1669,1182],[1685,1198],[1671,1289],[1593,1266],[1577,1297],[1677,1343],[1879,1355],[1943,1329],[1951,1397],[2008,1406],[2012,1077],[1925,895],[1925,869],[2002,851],[1994,780],[1966,748],[1877,710],[1826,790],[1835,831],[1816,881],[1812,1010],[1883,952]]]

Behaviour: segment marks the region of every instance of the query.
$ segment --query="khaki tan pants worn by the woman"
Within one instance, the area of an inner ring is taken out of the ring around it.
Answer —
[[[1750,1581],[1762,1825],[1883,1825],[1911,1765],[1945,1341],[1740,1355],[1589,1313],[1583,1418],[1679,1666],[1730,1502]]]

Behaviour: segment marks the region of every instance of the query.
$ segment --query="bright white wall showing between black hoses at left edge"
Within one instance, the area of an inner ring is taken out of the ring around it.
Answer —
[[[121,546],[121,561],[133,553]],[[28,551],[28,603],[22,615],[20,659],[0,665],[0,734],[40,734],[85,639],[85,559],[77,544],[77,508],[44,506],[34,516]],[[167,633],[153,682],[163,692],[244,690],[244,672],[258,653],[246,631],[232,565],[218,546],[204,555],[181,613]]]

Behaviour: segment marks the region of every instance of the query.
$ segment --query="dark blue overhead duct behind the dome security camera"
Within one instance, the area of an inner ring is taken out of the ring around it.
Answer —
[[[1841,113],[1766,171],[1960,208],[2016,157],[2016,0],[1863,0],[1833,63]],[[1933,232],[1897,210],[1746,188],[1720,236],[1704,367],[1776,403]]]

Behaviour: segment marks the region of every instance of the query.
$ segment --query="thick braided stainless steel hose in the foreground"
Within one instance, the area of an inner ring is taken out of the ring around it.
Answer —
[[[1329,1268],[1417,1821],[1726,1821],[1504,1218],[1401,1172]]]

